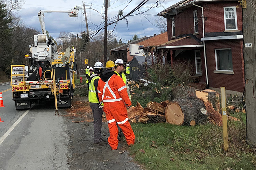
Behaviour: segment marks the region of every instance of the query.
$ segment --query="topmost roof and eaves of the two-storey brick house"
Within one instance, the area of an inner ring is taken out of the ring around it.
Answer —
[[[235,1],[235,0],[182,0],[173,4],[172,6],[166,8],[165,10],[158,13],[158,16],[163,16],[166,18],[167,16],[174,16],[180,12],[182,12],[187,7],[193,6],[194,4],[200,4],[202,2],[227,2],[227,1]]]

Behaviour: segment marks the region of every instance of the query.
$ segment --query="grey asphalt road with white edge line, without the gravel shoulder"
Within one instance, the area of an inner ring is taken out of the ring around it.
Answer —
[[[30,110],[16,111],[10,88],[10,84],[0,85],[0,92],[5,90],[5,107],[0,107],[4,121],[0,123],[0,169],[69,169],[64,118],[54,116],[51,104],[48,108],[34,104]]]

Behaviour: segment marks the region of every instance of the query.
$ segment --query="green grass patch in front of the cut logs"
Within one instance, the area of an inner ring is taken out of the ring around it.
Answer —
[[[176,126],[169,123],[137,123],[132,124],[136,141],[129,148],[130,153],[150,170],[256,169],[255,150],[243,142],[245,126],[239,121],[228,123],[228,152],[222,149],[222,127],[213,124]]]

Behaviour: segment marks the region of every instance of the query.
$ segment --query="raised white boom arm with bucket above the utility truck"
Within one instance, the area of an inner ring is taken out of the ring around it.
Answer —
[[[39,22],[41,25],[41,29],[42,29],[42,33],[46,34],[46,30],[45,30],[45,24],[44,24],[44,13],[68,13],[69,17],[76,17],[78,14],[78,10],[76,10],[75,8],[73,10],[68,10],[68,11],[39,11],[38,12],[38,18],[39,18]]]

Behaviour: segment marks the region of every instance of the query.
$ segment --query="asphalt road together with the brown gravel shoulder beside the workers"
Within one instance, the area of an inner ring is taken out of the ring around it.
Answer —
[[[94,146],[92,121],[73,123],[63,116],[65,109],[60,109],[62,116],[54,116],[53,103],[16,111],[10,84],[0,84],[0,92],[5,106],[0,107],[0,170],[140,169],[128,152],[119,154],[125,142],[114,152],[109,146]],[[86,112],[93,120],[91,110]],[[102,134],[109,136],[107,123]]]

